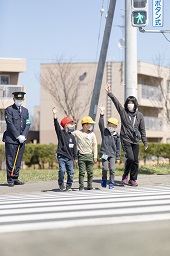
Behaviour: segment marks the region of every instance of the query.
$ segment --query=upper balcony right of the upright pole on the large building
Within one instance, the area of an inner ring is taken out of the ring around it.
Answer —
[[[163,108],[162,93],[156,86],[138,84],[138,101],[140,106]]]

